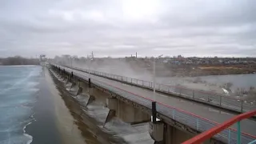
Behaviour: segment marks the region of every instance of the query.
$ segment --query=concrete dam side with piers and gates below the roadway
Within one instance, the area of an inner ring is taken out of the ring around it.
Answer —
[[[162,106],[158,103],[157,110],[155,110],[157,121],[152,121],[151,115],[154,115],[152,114],[154,110],[152,110],[150,98],[99,81],[94,78],[93,74],[78,72],[78,70],[63,66],[50,65],[50,69],[54,77],[62,82],[72,97],[80,101],[81,109],[90,107],[94,102],[106,107],[106,114],[101,115],[102,128],[105,128],[113,119],[121,120],[131,127],[143,124],[147,127],[144,127],[143,131],[143,137],[147,137],[146,143],[167,144],[182,143],[201,133],[208,126],[208,123],[203,122],[204,118],[200,119],[196,115],[191,116],[185,111],[170,106]],[[126,85],[122,82],[116,82],[116,84]],[[143,93],[150,93],[150,90],[145,90]],[[194,118],[197,118],[196,122],[194,122]],[[234,137],[235,132],[231,132],[231,136]],[[246,136],[242,139],[243,141],[248,139],[248,142],[250,142],[250,138],[246,138]],[[226,142],[225,138],[217,135],[205,143]]]

